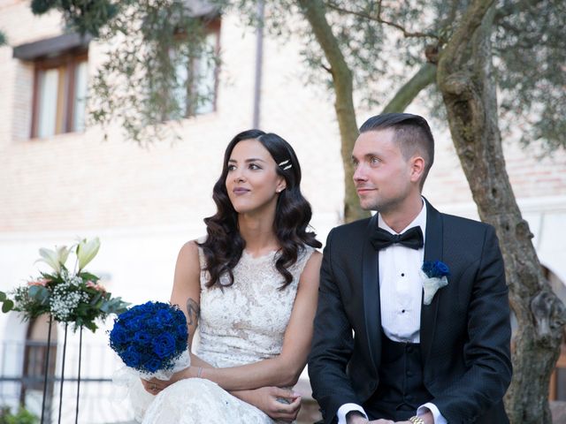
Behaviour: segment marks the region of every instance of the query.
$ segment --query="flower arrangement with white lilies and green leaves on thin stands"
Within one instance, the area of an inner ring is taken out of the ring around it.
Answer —
[[[27,320],[50,314],[57,322],[73,322],[75,330],[84,326],[96,331],[97,319],[103,320],[108,314],[119,314],[128,305],[120,298],[112,298],[111,293],[98,283],[100,278],[84,270],[99,248],[98,238],[89,241],[81,239],[68,248],[41,248],[39,253],[42,258],[38,261],[47,263],[52,271],[41,272],[40,277],[15,288],[11,292],[12,298],[0,292],[2,311],[18,311]],[[65,266],[71,253],[76,256],[73,271]]]

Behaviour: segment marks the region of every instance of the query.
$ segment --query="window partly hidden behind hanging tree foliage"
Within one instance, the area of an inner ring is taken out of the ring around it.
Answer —
[[[175,70],[178,87],[172,90],[172,97],[180,105],[176,114],[169,119],[180,119],[210,113],[216,110],[216,90],[218,70],[213,56],[218,55],[220,42],[220,20],[214,19],[207,24],[204,49],[201,57],[187,59],[178,64]],[[214,55],[211,55],[214,53]],[[175,53],[172,52],[172,55]],[[187,83],[189,79],[192,82]]]

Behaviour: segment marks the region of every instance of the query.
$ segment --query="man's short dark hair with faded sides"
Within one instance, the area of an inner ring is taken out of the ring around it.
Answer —
[[[384,113],[365,121],[360,126],[360,133],[386,128],[394,130],[394,141],[398,144],[405,159],[408,160],[417,154],[423,156],[424,172],[420,182],[422,190],[424,180],[434,162],[434,138],[426,119],[410,113]]]

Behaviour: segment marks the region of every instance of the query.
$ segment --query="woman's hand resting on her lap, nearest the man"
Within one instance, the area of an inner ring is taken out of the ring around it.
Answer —
[[[262,410],[273,420],[292,421],[301,409],[301,395],[279,387],[262,387],[249,390],[253,397],[249,403]]]

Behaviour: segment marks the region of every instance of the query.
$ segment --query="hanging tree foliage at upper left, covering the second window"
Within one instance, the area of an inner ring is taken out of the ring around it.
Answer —
[[[198,2],[197,2],[198,3]],[[196,16],[179,0],[34,0],[35,13],[57,9],[68,29],[93,34],[108,49],[89,87],[88,122],[102,125],[107,139],[119,125],[127,140],[148,144],[177,136],[174,122],[210,100],[197,89],[198,61],[218,64],[205,42],[206,25],[217,16]],[[198,5],[198,4],[197,4]]]

